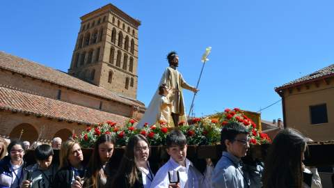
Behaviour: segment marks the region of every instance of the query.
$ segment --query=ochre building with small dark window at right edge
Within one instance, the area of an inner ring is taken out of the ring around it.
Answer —
[[[315,141],[334,140],[334,64],[275,88],[284,126]]]

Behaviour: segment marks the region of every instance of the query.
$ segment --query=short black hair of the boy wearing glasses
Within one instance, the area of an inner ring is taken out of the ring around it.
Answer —
[[[221,147],[223,151],[226,151],[225,140],[234,141],[238,134],[248,134],[248,131],[244,125],[237,122],[230,122],[221,129]]]

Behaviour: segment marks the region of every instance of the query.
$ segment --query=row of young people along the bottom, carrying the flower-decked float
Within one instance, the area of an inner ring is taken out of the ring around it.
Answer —
[[[27,166],[26,144],[14,140],[7,145],[1,140],[0,187],[321,187],[317,171],[306,180],[303,159],[307,139],[292,129],[281,130],[273,139],[265,165],[254,161],[246,168],[241,158],[249,148],[248,132],[239,123],[228,123],[221,130],[221,159],[215,166],[208,159],[205,173],[187,159],[186,136],[177,129],[166,137],[170,158],[159,169],[148,161],[150,143],[145,136],[129,139],[117,169],[110,162],[115,144],[110,134],[102,134],[86,165],[77,141],[61,143],[55,138],[51,146],[37,144],[33,150],[36,164]],[[59,164],[54,162],[54,149],[60,149]]]

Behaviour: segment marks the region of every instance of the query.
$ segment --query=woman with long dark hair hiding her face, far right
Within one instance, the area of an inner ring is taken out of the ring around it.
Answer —
[[[281,130],[273,139],[264,164],[263,187],[303,187],[305,137],[293,129]]]

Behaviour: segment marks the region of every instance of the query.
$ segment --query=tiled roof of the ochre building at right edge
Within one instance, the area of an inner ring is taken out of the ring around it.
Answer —
[[[320,79],[320,78],[323,78],[323,77],[334,77],[334,64],[329,65],[328,67],[323,68],[321,70],[318,70],[316,72],[313,72],[310,75],[306,75],[306,76],[301,77],[299,79],[296,79],[294,81],[290,81],[289,83],[284,84],[283,86],[279,86],[279,87],[275,88],[275,90],[278,91],[280,89],[287,88],[287,87],[292,86],[292,85],[298,85],[298,84],[301,84],[303,82],[308,82],[308,81],[312,81],[314,79]]]

